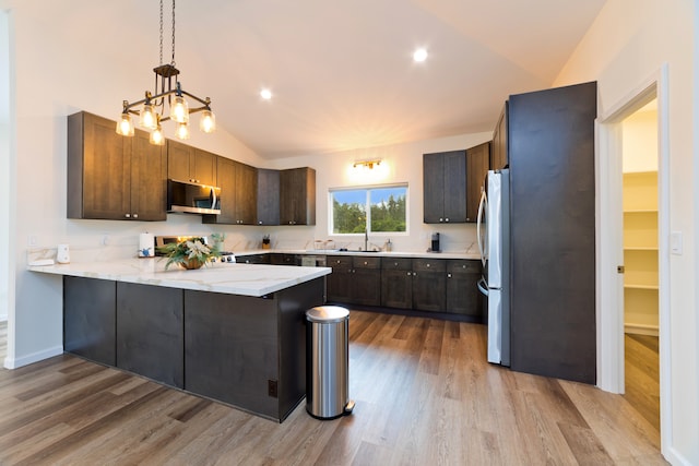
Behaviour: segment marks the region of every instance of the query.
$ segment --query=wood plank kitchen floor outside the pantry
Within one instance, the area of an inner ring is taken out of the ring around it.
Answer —
[[[352,416],[279,425],[63,355],[0,370],[2,465],[666,464],[624,396],[485,360],[486,327],[352,311]]]

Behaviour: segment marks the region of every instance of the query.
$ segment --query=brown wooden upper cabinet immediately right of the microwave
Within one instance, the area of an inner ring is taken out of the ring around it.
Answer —
[[[217,158],[221,214],[203,215],[204,224],[253,225],[256,218],[257,168],[225,157]]]

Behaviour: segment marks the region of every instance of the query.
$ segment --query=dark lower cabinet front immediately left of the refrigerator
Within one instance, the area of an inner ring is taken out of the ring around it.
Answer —
[[[483,319],[483,304],[477,283],[481,262],[467,260],[447,261],[447,312]]]

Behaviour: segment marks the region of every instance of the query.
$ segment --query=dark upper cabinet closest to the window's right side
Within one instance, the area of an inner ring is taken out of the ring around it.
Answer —
[[[426,224],[466,222],[466,152],[423,155],[423,215]]]

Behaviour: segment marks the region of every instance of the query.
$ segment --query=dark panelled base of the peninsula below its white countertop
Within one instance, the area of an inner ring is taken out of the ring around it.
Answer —
[[[63,277],[66,351],[282,421],[306,395],[316,278],[261,298]]]

